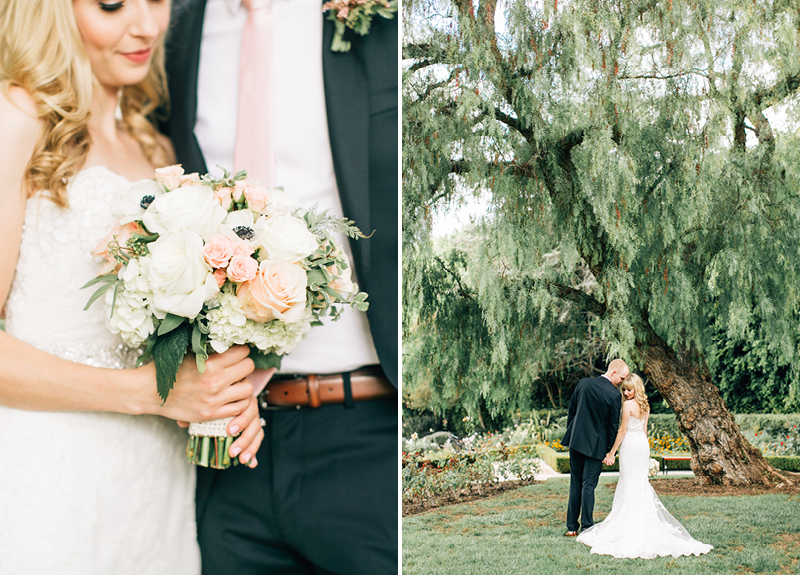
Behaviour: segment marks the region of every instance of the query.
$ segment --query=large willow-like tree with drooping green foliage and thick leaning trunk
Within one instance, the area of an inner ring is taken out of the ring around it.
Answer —
[[[674,409],[698,476],[774,481],[704,357],[757,315],[800,363],[800,5],[404,11],[404,384],[515,409],[591,329]],[[435,255],[432,213],[469,194],[473,245]]]

